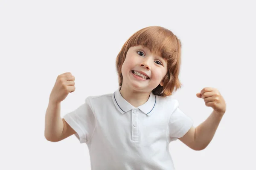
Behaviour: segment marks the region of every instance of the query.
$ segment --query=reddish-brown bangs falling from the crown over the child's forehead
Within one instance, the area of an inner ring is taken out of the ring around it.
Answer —
[[[137,31],[130,38],[127,46],[142,45],[151,53],[159,54],[163,59],[172,60],[178,52],[177,37],[172,31],[163,27],[146,27]]]

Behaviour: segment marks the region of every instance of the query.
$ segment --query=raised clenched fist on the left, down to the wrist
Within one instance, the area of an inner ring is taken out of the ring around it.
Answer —
[[[49,101],[59,103],[73,91],[75,91],[75,77],[70,72],[60,74],[52,88]]]

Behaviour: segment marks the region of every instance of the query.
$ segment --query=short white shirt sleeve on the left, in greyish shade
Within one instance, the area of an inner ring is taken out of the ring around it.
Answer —
[[[79,108],[67,113],[63,118],[76,131],[75,136],[80,143],[90,140],[95,129],[95,117],[89,97],[85,99],[85,102]]]

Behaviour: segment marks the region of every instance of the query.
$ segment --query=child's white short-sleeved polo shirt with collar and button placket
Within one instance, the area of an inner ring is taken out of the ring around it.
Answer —
[[[92,170],[175,170],[169,143],[182,137],[193,122],[172,97],[150,94],[135,108],[120,94],[89,96],[64,116],[86,143]]]

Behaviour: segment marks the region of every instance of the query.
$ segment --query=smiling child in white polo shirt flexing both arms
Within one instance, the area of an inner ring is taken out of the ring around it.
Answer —
[[[75,134],[86,143],[92,170],[174,170],[169,143],[180,139],[193,150],[212,140],[226,111],[215,88],[198,93],[214,110],[198,127],[171,96],[180,88],[180,40],[166,28],[134,33],[116,58],[119,88],[88,96],[75,111],[60,117],[60,102],[75,91],[75,77],[58,76],[49,97],[45,137],[58,142]]]

